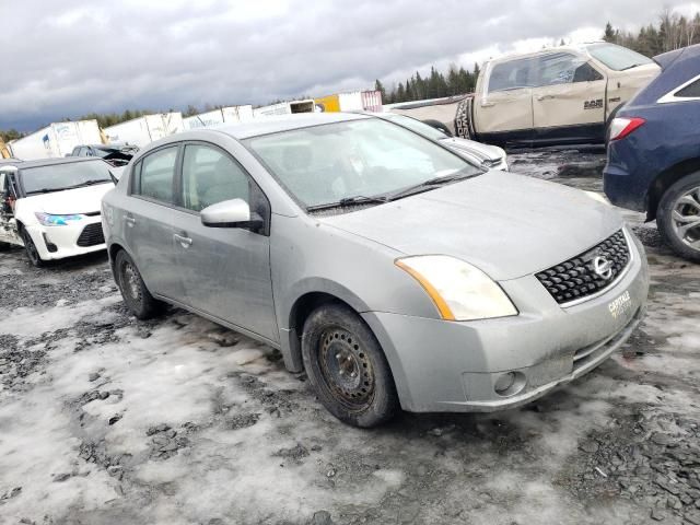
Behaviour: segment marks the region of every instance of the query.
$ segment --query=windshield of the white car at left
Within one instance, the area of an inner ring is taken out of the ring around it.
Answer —
[[[21,177],[22,187],[27,195],[112,182],[109,166],[104,161],[96,160],[26,167],[22,170]]]

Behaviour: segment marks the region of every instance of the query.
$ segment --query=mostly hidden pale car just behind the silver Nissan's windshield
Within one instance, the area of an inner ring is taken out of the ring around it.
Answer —
[[[420,121],[413,117],[407,117],[406,115],[398,115],[396,113],[381,113],[377,117],[404,126],[431,140],[439,140],[462,156],[487,170],[502,170],[504,172],[509,170],[505,151],[503,151],[502,148],[482,144],[475,140],[453,137],[442,122],[431,120],[431,124],[429,124],[428,121]]]

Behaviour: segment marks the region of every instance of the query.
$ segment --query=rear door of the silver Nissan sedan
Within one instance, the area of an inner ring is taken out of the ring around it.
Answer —
[[[173,253],[177,144],[160,148],[135,165],[125,199],[124,236],[152,293],[177,299],[182,284]]]

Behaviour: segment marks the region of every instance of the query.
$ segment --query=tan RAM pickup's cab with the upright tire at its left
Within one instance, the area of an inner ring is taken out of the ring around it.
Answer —
[[[615,109],[656,74],[651,59],[605,42],[490,60],[457,108],[456,135],[498,145],[603,143]]]

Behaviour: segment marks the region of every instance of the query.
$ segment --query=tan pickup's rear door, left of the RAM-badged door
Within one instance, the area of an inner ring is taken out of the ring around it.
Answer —
[[[475,108],[476,129],[483,142],[523,142],[532,137],[533,65],[533,58],[520,58],[490,68]]]

